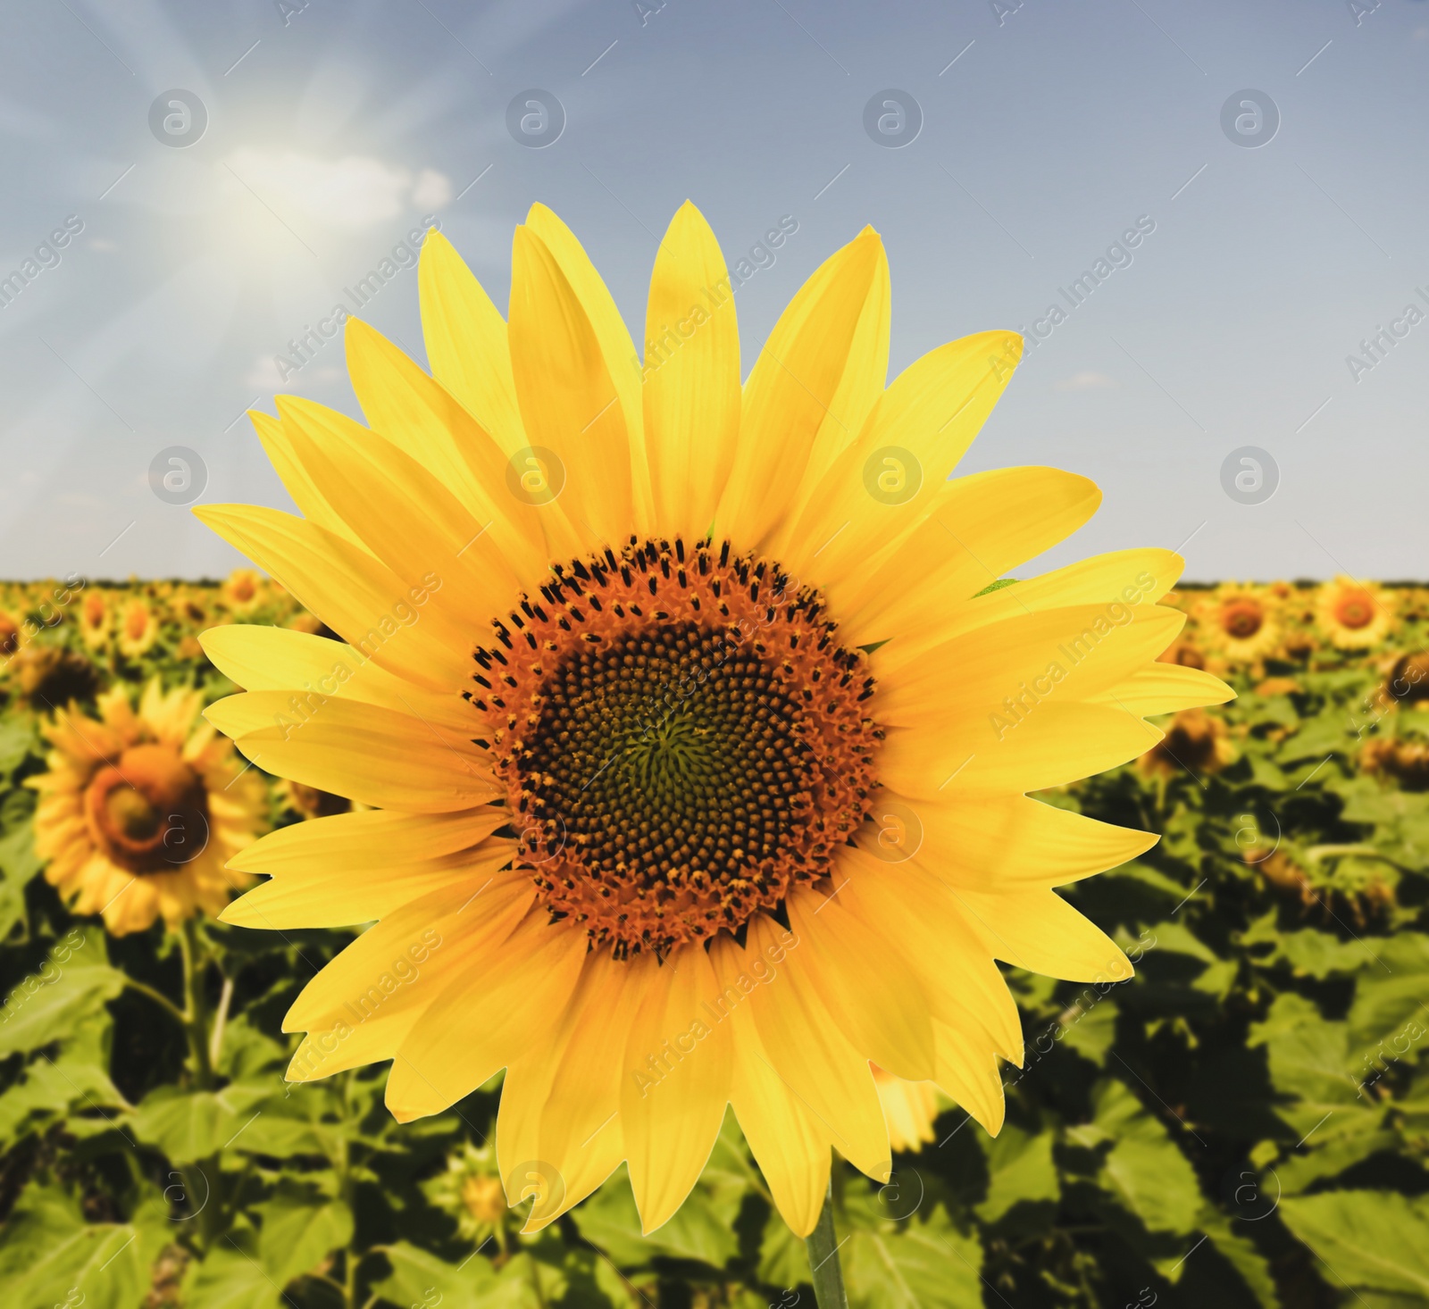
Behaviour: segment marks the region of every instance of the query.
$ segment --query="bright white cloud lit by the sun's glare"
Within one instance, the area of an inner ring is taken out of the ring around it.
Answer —
[[[227,167],[233,190],[247,186],[282,217],[326,227],[373,227],[409,207],[430,210],[452,199],[444,173],[423,169],[413,177],[409,169],[364,154],[330,160],[244,146],[229,157]]]

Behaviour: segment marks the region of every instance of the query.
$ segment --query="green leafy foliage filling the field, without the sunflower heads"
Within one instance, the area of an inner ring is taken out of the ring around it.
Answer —
[[[96,656],[103,677],[231,690],[180,653],[193,624],[171,616],[211,612],[213,596],[150,599],[169,606],[160,643],[143,659]],[[282,597],[263,604],[256,620],[293,616]],[[43,640],[80,649],[63,630]],[[1269,667],[1273,685],[1235,675],[1240,699],[1216,713],[1236,759],[1219,772],[1129,766],[1042,797],[1163,833],[1063,892],[1136,976],[1006,969],[1026,1057],[1003,1069],[1003,1132],[990,1139],[945,1105],[935,1142],[896,1156],[887,1186],[836,1165],[855,1309],[1429,1302],[1429,790],[1360,767],[1369,740],[1429,742],[1429,713],[1386,712],[1378,662],[1316,656]],[[44,766],[40,719],[9,686],[7,1306],[813,1303],[805,1245],[733,1115],[657,1232],[642,1235],[620,1169],[523,1236],[520,1212],[493,1220],[463,1199],[494,1175],[499,1082],[407,1126],[383,1108],[382,1067],[284,1083],[296,1037],[283,1015],[352,932],[203,927],[190,947],[214,1059],[200,1067],[174,937],[109,939],[39,876],[21,783]],[[274,796],[273,816],[297,813]]]

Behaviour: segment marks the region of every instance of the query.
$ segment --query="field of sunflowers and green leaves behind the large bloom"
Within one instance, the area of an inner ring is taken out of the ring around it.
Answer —
[[[833,1175],[852,1305],[1429,1305],[1429,589],[1167,603],[1162,659],[1238,697],[1039,796],[1162,835],[1063,889],[1136,975],[1003,966],[1025,1047],[995,1139],[876,1069],[893,1178]],[[230,860],[350,806],[204,723],[236,686],[199,633],[231,623],[329,634],[247,570],[0,586],[4,1303],[812,1305],[733,1116],[652,1235],[623,1169],[523,1235],[500,1076],[407,1125],[384,1065],[284,1080],[283,1015],[362,929],[219,922],[256,880]]]

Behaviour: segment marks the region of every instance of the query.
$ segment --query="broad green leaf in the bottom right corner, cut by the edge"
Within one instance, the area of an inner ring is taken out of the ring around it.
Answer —
[[[1328,1190],[1280,1200],[1280,1216],[1333,1270],[1332,1286],[1429,1299],[1429,1200]]]

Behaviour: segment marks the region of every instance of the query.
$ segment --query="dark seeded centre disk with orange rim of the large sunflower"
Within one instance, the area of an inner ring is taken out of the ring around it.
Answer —
[[[679,540],[552,572],[476,650],[472,693],[550,910],[663,955],[829,876],[882,733],[817,592]]]

